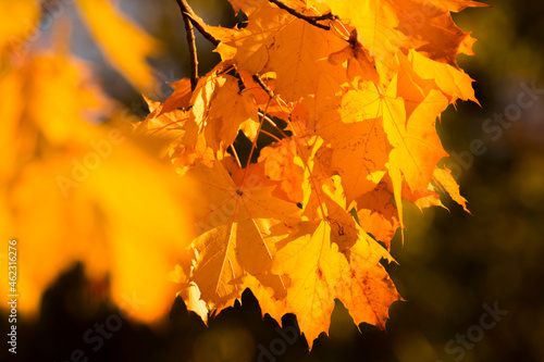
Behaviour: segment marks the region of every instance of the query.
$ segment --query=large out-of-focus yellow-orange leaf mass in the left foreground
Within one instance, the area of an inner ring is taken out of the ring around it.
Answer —
[[[90,123],[97,109],[110,116],[112,103],[85,63],[36,55],[11,68],[0,89],[10,102],[1,114],[0,235],[17,239],[20,311],[36,312],[45,288],[82,261],[91,278],[109,275],[126,313],[164,315],[175,295],[168,273],[191,239],[187,183],[146,151],[151,142],[125,133],[126,120]],[[1,278],[4,303],[7,273]]]

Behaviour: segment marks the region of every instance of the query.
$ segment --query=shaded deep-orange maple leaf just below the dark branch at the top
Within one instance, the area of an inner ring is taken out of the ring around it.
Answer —
[[[224,42],[236,49],[234,60],[239,70],[251,74],[273,70],[276,89],[287,101],[314,93],[320,74],[338,79],[343,76],[343,68],[329,62],[327,57],[344,48],[345,42],[275,7],[257,9],[248,26],[234,32]]]

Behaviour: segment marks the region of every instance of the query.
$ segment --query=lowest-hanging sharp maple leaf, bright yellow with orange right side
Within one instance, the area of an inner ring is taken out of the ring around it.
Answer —
[[[368,322],[382,328],[388,305],[400,298],[380,264],[391,255],[345,211],[337,176],[334,190],[321,196],[326,208],[322,220],[304,222],[292,239],[281,241],[285,246],[272,269],[290,279],[285,311],[298,316],[310,348],[322,330],[329,330],[334,298],[346,305],[356,325]]]

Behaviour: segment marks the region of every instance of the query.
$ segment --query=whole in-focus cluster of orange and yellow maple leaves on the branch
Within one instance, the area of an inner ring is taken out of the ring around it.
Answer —
[[[224,101],[217,103],[230,109],[221,112],[235,115],[228,121],[232,128],[222,128],[226,118],[208,122],[215,95],[224,87],[225,65],[201,78],[183,105],[193,108],[187,132],[205,135],[205,148],[212,149],[215,158],[207,167],[193,163],[187,172],[207,195],[197,220],[218,221],[197,228],[193,261],[185,264],[181,278],[182,292],[193,292],[188,301],[195,303],[198,288],[208,308],[220,310],[250,287],[263,303],[263,313],[274,317],[295,313],[310,346],[329,328],[334,298],[344,302],[356,323],[383,328],[388,305],[400,297],[379,263],[382,258],[391,261],[391,255],[367,233],[388,248],[395,232],[404,227],[403,200],[421,209],[443,205],[436,190],[466,207],[448,171],[436,167],[447,153],[435,122],[456,100],[475,101],[472,79],[455,62],[459,52],[471,53],[473,39],[457,28],[449,12],[481,4],[232,3],[236,12],[248,15],[246,27],[203,26],[219,41],[223,63],[232,66],[251,95],[259,122],[255,113],[250,116],[237,111],[236,102]],[[413,13],[422,9],[429,11],[417,23]],[[236,91],[239,97],[234,82],[226,88],[232,89],[230,99]],[[287,123],[289,135],[274,117]],[[259,148],[267,122],[283,139]],[[222,129],[223,137],[242,132],[252,142],[249,154],[257,149],[260,153],[257,163],[250,164],[249,157],[242,165],[239,145],[232,142],[232,136],[213,139],[211,135],[218,135],[213,129]],[[188,140],[184,139],[182,143]],[[232,145],[236,162],[225,157],[225,148],[218,146],[221,141]],[[255,226],[263,210],[245,202],[248,194],[240,186],[248,185],[248,175],[267,189],[260,199],[273,209],[267,223],[283,225],[272,238]],[[287,222],[279,211],[295,202],[301,210],[293,209]],[[234,207],[225,210],[224,204]],[[347,210],[357,213],[357,222]],[[259,267],[240,257],[242,237],[255,240]],[[281,283],[271,282],[274,277]],[[201,310],[201,304],[195,305]]]

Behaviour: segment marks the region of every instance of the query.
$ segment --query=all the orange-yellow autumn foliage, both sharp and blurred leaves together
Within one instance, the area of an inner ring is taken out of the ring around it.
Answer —
[[[457,100],[477,101],[456,63],[474,39],[450,13],[483,4],[231,0],[247,21],[224,28],[177,3],[191,77],[164,101],[147,99],[134,132],[62,36],[44,54],[25,53],[22,35],[1,45],[0,225],[33,265],[20,282],[28,310],[79,259],[91,276],[111,271],[119,303],[137,290],[147,319],[175,288],[203,320],[250,288],[263,313],[295,313],[310,346],[334,299],[356,324],[384,328],[401,298],[381,261],[393,261],[403,202],[442,205],[442,191],[466,208],[438,166],[447,153],[435,122]],[[34,1],[3,7],[38,12]],[[77,7],[106,58],[145,91],[156,40],[106,0]],[[10,26],[1,30],[23,32]],[[202,76],[194,28],[221,55]],[[97,114],[110,122],[91,125]]]

